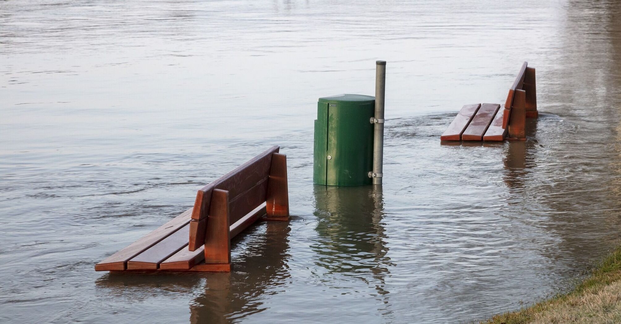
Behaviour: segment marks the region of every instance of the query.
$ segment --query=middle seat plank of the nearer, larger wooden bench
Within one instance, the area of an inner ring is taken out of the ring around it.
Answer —
[[[180,228],[156,245],[127,261],[127,270],[156,270],[162,261],[188,246],[189,228],[189,224]]]

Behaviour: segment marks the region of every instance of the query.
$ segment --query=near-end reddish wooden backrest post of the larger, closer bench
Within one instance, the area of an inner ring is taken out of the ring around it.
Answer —
[[[214,189],[207,217],[205,263],[230,264],[229,191]]]

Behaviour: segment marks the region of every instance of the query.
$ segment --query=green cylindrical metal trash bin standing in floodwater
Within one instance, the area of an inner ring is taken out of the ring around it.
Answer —
[[[327,186],[371,184],[375,97],[319,98],[315,120],[313,182]]]

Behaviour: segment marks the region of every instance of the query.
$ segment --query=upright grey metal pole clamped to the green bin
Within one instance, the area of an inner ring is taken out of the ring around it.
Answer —
[[[375,119],[373,121],[373,184],[382,184],[384,160],[384,94],[386,61],[375,61]]]

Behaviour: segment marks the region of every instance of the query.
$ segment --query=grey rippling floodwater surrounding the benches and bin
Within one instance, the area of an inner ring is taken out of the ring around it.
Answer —
[[[610,1],[0,1],[0,322],[460,323],[571,286],[621,237],[621,4]],[[319,97],[374,94],[384,185],[312,184]],[[525,142],[441,144],[504,102]],[[230,274],[94,264],[271,145],[289,223]]]

